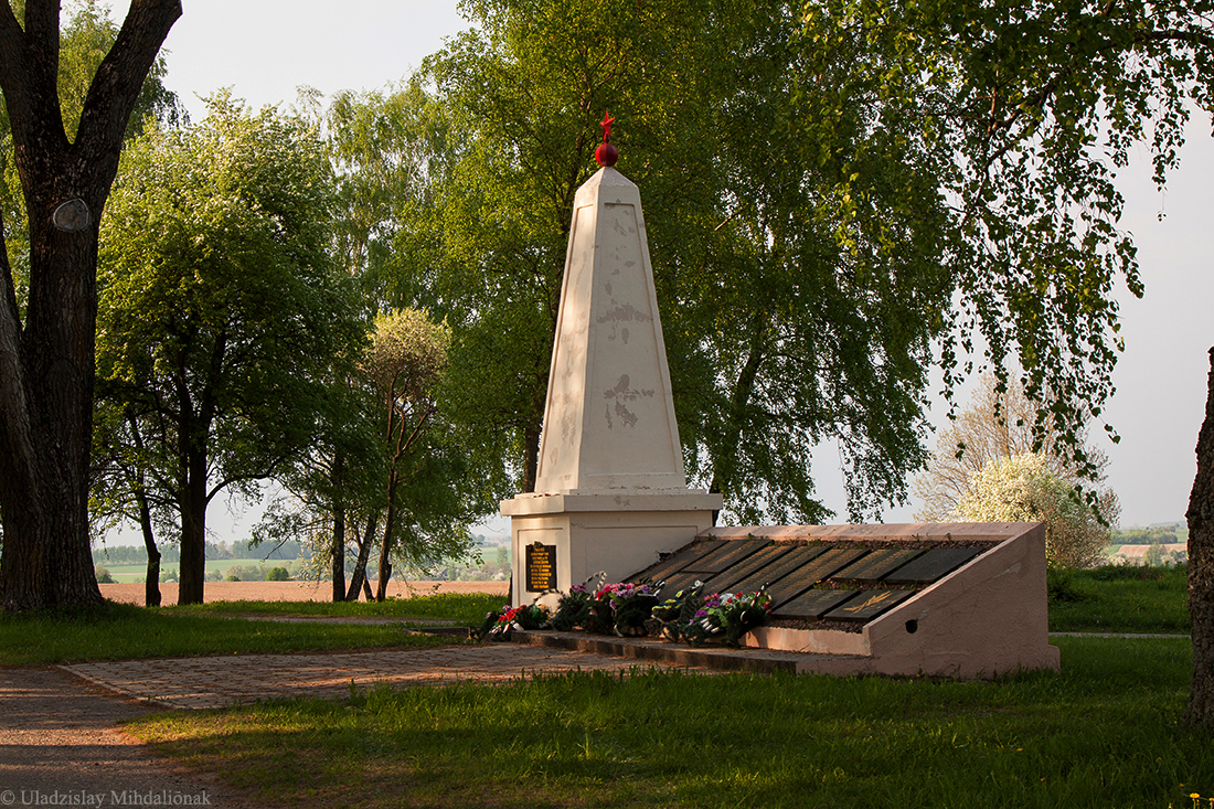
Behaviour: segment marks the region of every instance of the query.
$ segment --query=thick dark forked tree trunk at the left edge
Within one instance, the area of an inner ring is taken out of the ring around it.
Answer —
[[[180,16],[178,0],[132,0],[69,142],[57,91],[59,2],[28,0],[24,28],[10,4],[0,6],[0,90],[29,215],[24,323],[0,249],[0,604],[7,611],[102,602],[87,513],[97,237],[127,119]]]

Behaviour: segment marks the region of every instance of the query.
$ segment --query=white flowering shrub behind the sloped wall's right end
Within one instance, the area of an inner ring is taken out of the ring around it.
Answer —
[[[972,522],[1044,522],[1050,567],[1091,567],[1110,531],[1036,453],[993,460],[970,481],[953,519]]]

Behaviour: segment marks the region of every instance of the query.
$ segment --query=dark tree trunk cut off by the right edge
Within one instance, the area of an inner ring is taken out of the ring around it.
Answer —
[[[1193,681],[1185,722],[1214,730],[1214,349],[1206,420],[1197,436],[1197,476],[1189,496],[1189,615]]]

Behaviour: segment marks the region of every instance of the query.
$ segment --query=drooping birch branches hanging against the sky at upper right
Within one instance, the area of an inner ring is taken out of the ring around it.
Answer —
[[[1082,431],[1122,350],[1114,289],[1142,294],[1113,177],[1142,149],[1162,185],[1192,106],[1214,108],[1206,5],[823,0],[800,44],[811,64],[863,49],[835,86],[908,121],[949,200],[947,389],[980,335],[1000,381],[1015,361],[1029,398],[1049,395],[1038,436],[1053,424],[1090,476]]]

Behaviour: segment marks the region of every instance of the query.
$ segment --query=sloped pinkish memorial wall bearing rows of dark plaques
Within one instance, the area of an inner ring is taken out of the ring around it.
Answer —
[[[629,581],[666,596],[697,581],[705,593],[766,587],[771,618],[745,643],[804,652],[799,671],[972,678],[1059,667],[1039,524],[709,528]]]

